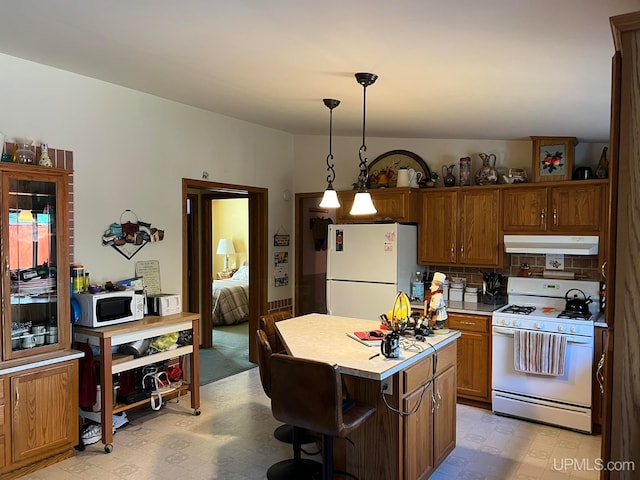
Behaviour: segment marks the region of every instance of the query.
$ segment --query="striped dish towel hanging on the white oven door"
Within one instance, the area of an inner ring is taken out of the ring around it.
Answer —
[[[514,330],[513,363],[519,372],[564,375],[567,337],[557,333]]]

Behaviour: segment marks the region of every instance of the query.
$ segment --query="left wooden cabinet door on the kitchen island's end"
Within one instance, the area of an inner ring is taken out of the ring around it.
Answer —
[[[433,385],[417,388],[403,400],[405,412],[414,415],[404,415],[404,478],[422,480],[428,478],[434,470],[433,461],[433,414],[436,409],[436,399],[433,395]],[[455,400],[454,400],[455,403]]]

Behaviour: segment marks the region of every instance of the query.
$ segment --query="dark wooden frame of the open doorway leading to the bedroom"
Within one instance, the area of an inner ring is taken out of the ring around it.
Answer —
[[[249,359],[258,363],[255,337],[260,315],[267,312],[267,232],[266,188],[229,185],[204,180],[182,179],[182,298],[185,309],[200,313],[201,348],[213,346],[211,285],[213,199],[246,198],[249,209]]]

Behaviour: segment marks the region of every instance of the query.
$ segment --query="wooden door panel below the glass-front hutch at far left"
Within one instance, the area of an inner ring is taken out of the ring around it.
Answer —
[[[12,460],[47,457],[78,441],[78,364],[11,377]]]

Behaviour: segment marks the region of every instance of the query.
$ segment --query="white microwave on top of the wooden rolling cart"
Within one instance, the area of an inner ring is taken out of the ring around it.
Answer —
[[[134,290],[77,293],[74,298],[80,303],[77,324],[84,327],[104,327],[144,317],[144,295]]]

